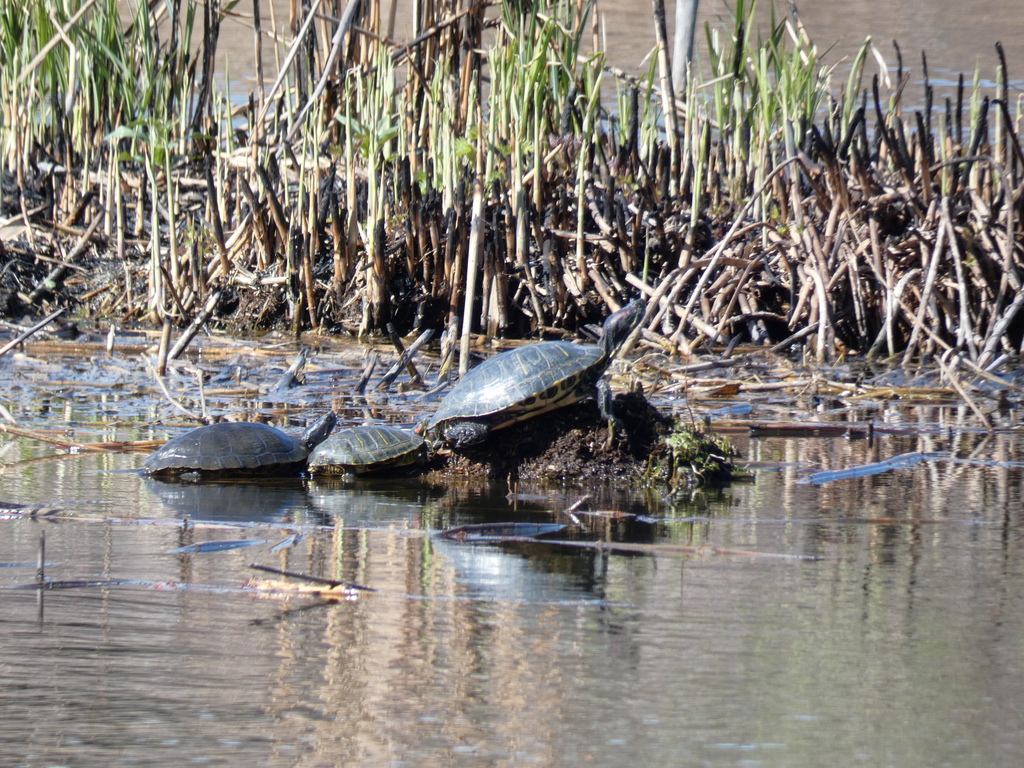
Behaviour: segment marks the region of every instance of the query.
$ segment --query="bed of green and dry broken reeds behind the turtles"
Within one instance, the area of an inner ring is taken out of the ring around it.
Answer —
[[[643,343],[995,370],[1024,344],[1020,103],[981,75],[904,109],[834,85],[795,11],[606,65],[585,0],[392,6],[29,0],[0,9],[0,308],[362,336],[573,329],[637,294]],[[215,75],[252,15],[274,81]],[[286,29],[287,27],[287,29]],[[887,80],[891,78],[892,82]],[[673,95],[675,96],[673,98]],[[198,328],[198,325],[196,325]],[[464,355],[464,359],[465,359]]]

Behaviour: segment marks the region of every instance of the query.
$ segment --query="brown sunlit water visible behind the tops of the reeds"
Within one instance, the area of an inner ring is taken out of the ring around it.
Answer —
[[[272,82],[275,56],[272,40],[270,3],[261,1],[264,29],[263,58],[265,80]],[[746,7],[753,3],[748,0]],[[273,0],[279,30],[285,39],[283,48],[290,43],[284,32],[289,24],[287,0]],[[383,3],[389,9],[391,3]],[[667,27],[670,44],[674,35],[675,2],[665,3],[668,9]],[[708,55],[708,35],[724,39],[734,30],[733,9],[737,3],[730,0],[700,0],[697,12],[697,33],[694,61],[700,80],[711,78]],[[404,43],[414,37],[410,0],[396,0],[397,12],[393,39]],[[815,43],[820,61],[825,68],[836,68],[833,87],[839,92],[846,85],[849,69],[858,49],[870,38],[877,49],[865,62],[864,87],[870,89],[870,78],[879,73],[883,80],[883,98],[899,86],[899,68],[894,41],[902,53],[902,73],[909,74],[910,85],[903,92],[907,106],[921,108],[925,97],[920,83],[925,80],[922,53],[928,57],[929,80],[936,87],[942,106],[942,97],[952,95],[958,77],[967,78],[968,87],[975,70],[986,88],[995,83],[998,57],[995,44],[1001,43],[1006,51],[1011,98],[1020,94],[1024,77],[1024,15],[1015,12],[1012,4],[1004,0],[803,0],[796,3],[800,18],[810,39]],[[790,3],[774,3],[775,17],[784,19]],[[495,11],[497,12],[497,11]],[[757,3],[755,20],[757,29],[753,39],[767,37],[770,27],[772,3]],[[586,35],[583,51],[586,54],[597,47],[606,54],[609,65],[633,77],[646,75],[650,54],[656,44],[653,5],[650,0],[618,0],[595,4],[592,20],[597,19],[596,36]],[[788,45],[791,41],[786,39]],[[217,66],[223,75],[233,79],[237,97],[245,96],[256,87],[252,23],[248,15],[228,16],[221,27],[218,41]],[[284,55],[283,53],[280,55]],[[885,62],[883,67],[879,59]],[[269,86],[269,82],[265,83]],[[610,90],[610,89],[609,89]],[[991,95],[991,94],[990,94]],[[609,104],[609,106],[613,106]]]

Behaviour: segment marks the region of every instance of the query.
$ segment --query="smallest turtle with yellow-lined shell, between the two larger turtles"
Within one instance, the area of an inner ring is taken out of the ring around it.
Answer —
[[[421,464],[427,442],[407,429],[386,426],[339,430],[309,455],[314,475],[367,474]]]

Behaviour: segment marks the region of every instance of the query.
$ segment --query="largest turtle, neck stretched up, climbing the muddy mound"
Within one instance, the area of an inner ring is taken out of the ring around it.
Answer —
[[[643,315],[638,299],[608,316],[596,345],[545,341],[496,354],[452,388],[427,431],[456,447],[471,445],[492,430],[591,395],[610,420],[611,391],[602,377]]]

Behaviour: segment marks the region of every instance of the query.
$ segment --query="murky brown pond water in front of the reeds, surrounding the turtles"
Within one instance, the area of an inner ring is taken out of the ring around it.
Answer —
[[[336,347],[313,355],[284,402],[266,395],[291,356],[273,344],[204,352],[230,381],[207,382],[211,410],[291,409],[298,424],[353,404],[338,392],[358,360]],[[174,433],[182,422],[141,346],[0,359],[2,402],[23,427],[81,441]],[[90,356],[106,373],[86,385]],[[188,374],[170,388],[195,407]],[[380,395],[375,413],[415,418],[428,406],[414,397]],[[800,415],[781,394],[753,402],[754,418]],[[691,404],[699,416],[721,403]],[[503,487],[400,480],[198,487],[140,477],[143,455],[58,456],[0,434],[0,501],[71,512],[0,519],[0,762],[1019,765],[1019,433],[986,435],[956,409],[831,407],[801,418],[922,430],[871,442],[740,435],[744,457],[767,467],[751,482],[678,503],[611,489],[599,506],[639,517],[583,518],[609,541],[702,545],[702,555],[431,536],[551,520],[546,510],[598,490],[571,478],[515,508]],[[146,426],[157,420],[168,426]],[[942,456],[801,482],[910,451]],[[198,524],[183,530],[184,515]],[[41,535],[47,579],[120,583],[11,589],[33,582]],[[258,544],[172,551],[234,540]],[[380,592],[331,604],[259,596],[243,589],[250,563]]]

